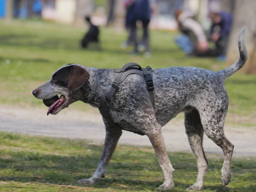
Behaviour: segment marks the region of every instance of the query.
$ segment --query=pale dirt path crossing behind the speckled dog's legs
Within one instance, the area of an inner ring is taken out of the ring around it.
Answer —
[[[82,138],[103,143],[105,129],[99,114],[65,109],[58,115],[46,115],[46,108],[16,108],[0,105],[0,130],[51,137]],[[227,138],[235,145],[234,156],[256,156],[256,129],[225,126]],[[183,120],[173,119],[163,127],[168,151],[191,152]],[[151,146],[146,136],[123,131],[119,144]],[[204,137],[206,153],[222,154],[221,149]]]

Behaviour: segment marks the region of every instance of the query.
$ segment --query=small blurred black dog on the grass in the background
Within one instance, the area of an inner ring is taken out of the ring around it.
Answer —
[[[85,33],[84,38],[81,40],[81,47],[87,48],[90,43],[95,43],[100,48],[99,27],[93,25],[89,16],[86,16],[84,19],[87,21],[87,23],[89,23],[90,27],[87,33]]]

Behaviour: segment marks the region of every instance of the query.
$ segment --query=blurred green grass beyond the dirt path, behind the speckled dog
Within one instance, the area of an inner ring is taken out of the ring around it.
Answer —
[[[215,59],[186,58],[175,46],[174,32],[152,31],[152,57],[131,56],[131,50],[120,49],[126,32],[102,28],[103,51],[79,49],[83,28],[35,21],[0,20],[0,104],[42,106],[31,91],[49,80],[51,74],[68,63],[88,67],[116,68],[127,62],[137,62],[153,68],[195,66],[220,70],[225,63]],[[256,76],[236,73],[226,81],[230,98],[229,113],[253,117],[255,111]],[[73,108],[87,109],[78,104]]]

